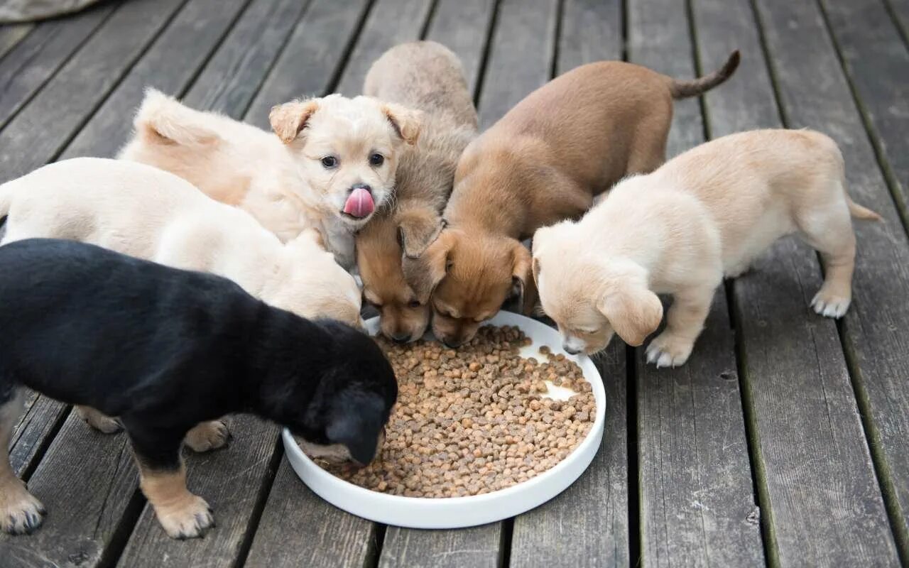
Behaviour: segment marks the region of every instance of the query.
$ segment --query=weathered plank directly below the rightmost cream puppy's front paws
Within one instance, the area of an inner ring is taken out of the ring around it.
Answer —
[[[645,566],[764,565],[734,348],[720,288],[686,364],[637,350]]]

